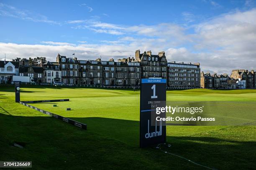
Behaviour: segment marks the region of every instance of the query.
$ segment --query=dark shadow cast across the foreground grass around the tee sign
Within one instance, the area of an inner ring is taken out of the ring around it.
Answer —
[[[123,166],[134,163],[134,168],[140,168],[139,163],[143,165],[144,169],[201,169],[186,160],[168,155],[152,147],[139,149],[138,121],[102,117],[69,118],[86,123],[88,130],[82,130],[54,117],[43,116],[43,114],[42,117],[20,117],[0,114],[0,121],[2,122],[0,130],[3,130],[1,131],[3,132],[2,134],[5,134],[2,136],[3,138],[6,139],[6,136],[9,136],[9,139],[7,139],[9,141],[13,140],[26,143],[25,148],[28,148],[28,150],[31,150],[29,146],[33,145],[33,143],[36,143],[36,146],[40,145],[36,149],[36,153],[33,153],[35,155],[38,155],[37,152],[42,152],[44,156],[51,155],[51,152],[59,152],[56,154],[61,155],[62,152],[65,153],[66,150],[71,150],[72,159],[81,160],[81,151],[83,150],[86,152],[85,155],[90,155],[86,158],[92,167],[96,166],[99,159],[106,159],[105,161],[102,160],[100,164],[105,164],[105,166],[110,164],[113,166],[116,162],[114,158],[125,156],[124,158],[125,160],[128,159],[128,162],[125,162]],[[12,123],[10,124],[8,122]],[[184,128],[188,128],[189,130],[189,127]],[[240,127],[237,127],[236,133],[239,133],[239,130],[241,130]],[[247,130],[250,130],[250,128]],[[6,131],[8,131],[8,134],[5,133]],[[223,133],[226,133],[224,135],[225,138],[220,138],[219,135]],[[167,142],[171,143],[172,147],[164,149],[170,153],[216,169],[241,170],[255,168],[256,142],[231,140],[227,136],[228,133],[230,133],[230,130],[227,129],[225,132],[223,130],[221,132],[217,131],[210,136],[167,136]],[[230,138],[233,138],[232,133],[229,135]],[[27,138],[26,136],[31,137]],[[71,137],[69,138],[69,136]],[[44,148],[45,145],[48,147]],[[56,147],[57,151],[47,150],[50,146]],[[94,149],[90,150],[90,148]],[[95,155],[109,148],[112,150],[108,151],[111,152],[111,156],[108,153],[108,158],[103,155],[97,159],[95,158]],[[119,153],[122,153],[122,155]],[[145,160],[138,162],[138,159]],[[61,162],[63,161],[61,160]],[[121,159],[120,161],[124,160]],[[111,167],[108,168],[110,169]],[[118,168],[122,168],[121,165],[118,165]]]

